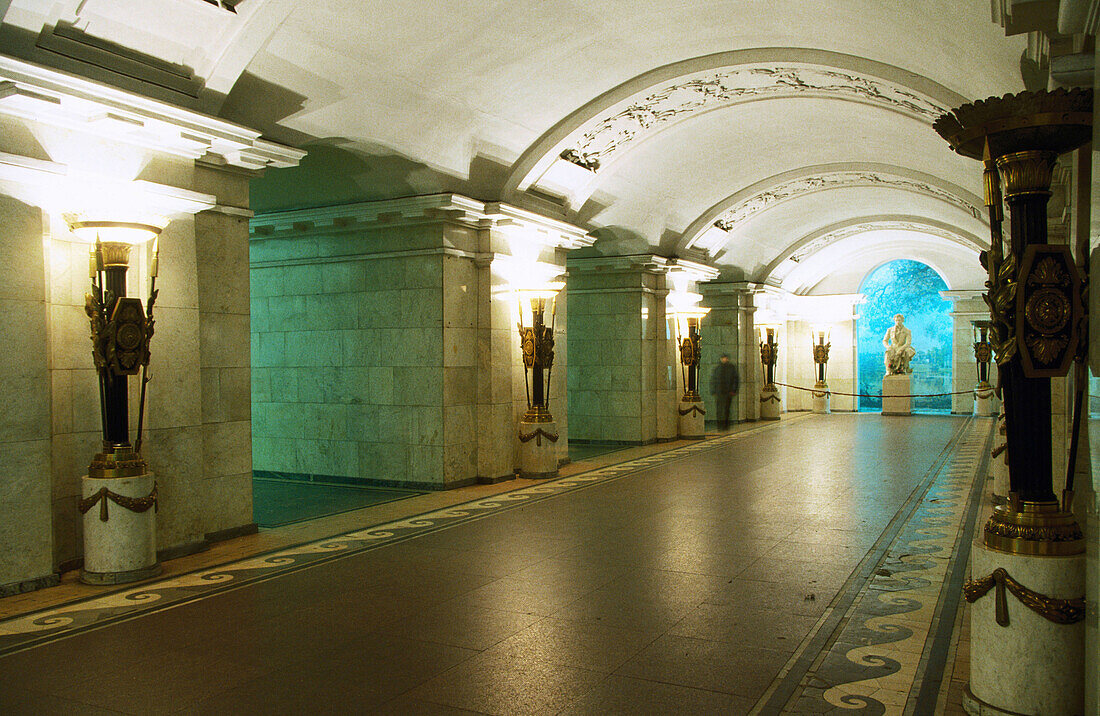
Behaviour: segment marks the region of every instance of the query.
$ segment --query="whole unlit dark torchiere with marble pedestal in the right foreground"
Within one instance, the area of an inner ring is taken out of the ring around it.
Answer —
[[[933,126],[957,153],[985,163],[991,240],[981,261],[1009,463],[1009,502],[986,522],[970,557],[975,579],[964,588],[974,604],[967,711],[1082,713],[1085,539],[1072,514],[1072,484],[1086,388],[1081,294],[1089,246],[1079,241],[1075,260],[1068,245],[1048,243],[1046,205],[1058,155],[1092,139],[1092,90],[991,97],[952,110]],[[1008,238],[1002,203],[1010,211]],[[1065,376],[1075,361],[1059,503],[1050,378]]]

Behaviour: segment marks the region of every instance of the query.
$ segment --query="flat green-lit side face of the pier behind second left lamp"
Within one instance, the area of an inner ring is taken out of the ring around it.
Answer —
[[[289,261],[252,242],[255,469],[441,484],[443,256],[341,239],[350,255],[329,239]]]

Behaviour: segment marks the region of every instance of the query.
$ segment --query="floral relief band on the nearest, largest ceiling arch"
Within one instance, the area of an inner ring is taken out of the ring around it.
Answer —
[[[826,97],[875,104],[932,124],[950,108],[869,74],[804,64],[698,73],[650,88],[614,113],[594,118],[559,156],[596,172],[615,153],[690,114],[776,97]]]

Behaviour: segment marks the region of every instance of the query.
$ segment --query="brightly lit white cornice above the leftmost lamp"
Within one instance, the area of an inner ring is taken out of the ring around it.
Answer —
[[[0,114],[248,169],[296,166],[306,155],[239,124],[3,55]]]

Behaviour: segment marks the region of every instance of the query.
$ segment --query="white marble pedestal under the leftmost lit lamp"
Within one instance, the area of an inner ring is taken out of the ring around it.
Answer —
[[[123,498],[148,497],[156,484],[153,473],[133,477],[89,477],[81,480],[85,499],[105,487]],[[107,520],[102,518],[106,516]],[[156,562],[156,509],[136,513],[102,494],[84,514],[84,570],[87,584],[123,584],[161,573]]]

